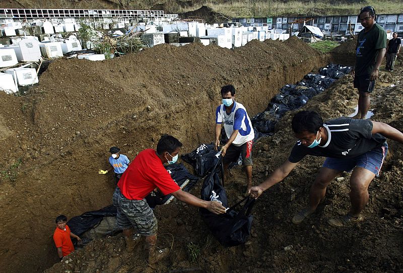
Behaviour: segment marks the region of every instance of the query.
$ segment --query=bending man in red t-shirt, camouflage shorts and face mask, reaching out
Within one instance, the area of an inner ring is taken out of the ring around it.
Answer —
[[[173,164],[178,158],[182,143],[170,135],[163,135],[157,150],[141,151],[124,171],[113,194],[113,204],[117,208],[116,224],[123,230],[127,250],[131,251],[135,242],[131,239],[133,227],[145,236],[145,248],[149,252],[150,267],[168,254],[168,249],[156,251],[157,219],[148,206],[145,197],[158,188],[164,195],[171,194],[186,204],[205,208],[222,214],[225,208],[215,201],[204,201],[183,192],[171,178],[164,164]],[[138,240],[137,240],[138,241]]]

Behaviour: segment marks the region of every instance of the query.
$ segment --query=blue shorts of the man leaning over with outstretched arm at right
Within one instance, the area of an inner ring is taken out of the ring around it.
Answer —
[[[379,176],[386,154],[387,143],[384,142],[381,147],[353,158],[326,157],[322,167],[348,172],[352,171],[355,167],[362,167]]]

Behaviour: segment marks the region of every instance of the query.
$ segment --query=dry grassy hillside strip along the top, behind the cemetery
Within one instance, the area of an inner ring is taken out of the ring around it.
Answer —
[[[231,18],[353,15],[364,6],[372,6],[378,14],[403,13],[401,0],[19,0],[7,1],[3,8],[26,9],[129,9],[154,10],[159,5],[166,13],[184,13],[208,6],[214,12]],[[14,4],[13,4],[14,3]],[[22,6],[21,6],[22,5]]]

